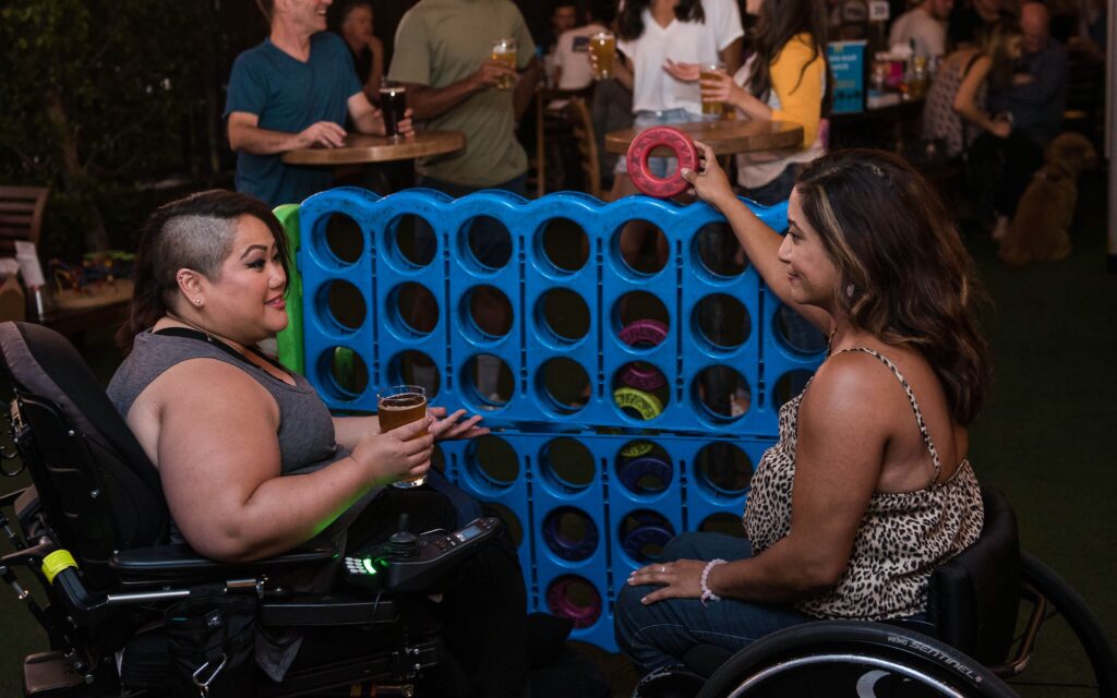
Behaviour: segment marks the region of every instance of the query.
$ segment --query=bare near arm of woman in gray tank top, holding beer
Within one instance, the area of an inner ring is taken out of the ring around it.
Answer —
[[[417,422],[366,434],[351,456],[316,472],[280,476],[278,420],[267,391],[213,360],[170,369],[128,412],[171,515],[202,555],[246,561],[288,551],[372,487],[429,467],[432,437],[405,440],[427,427]]]

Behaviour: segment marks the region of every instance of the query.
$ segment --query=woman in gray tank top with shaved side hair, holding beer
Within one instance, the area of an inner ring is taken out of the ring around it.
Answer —
[[[383,487],[423,475],[436,439],[485,433],[480,418],[431,409],[382,432],[375,417],[332,417],[305,377],[256,348],[287,325],[288,269],[279,222],[242,194],[169,203],[143,231],[120,334],[130,353],[108,392],[160,471],[173,535],[235,562],[283,553],[326,528],[338,542],[390,532],[401,509],[416,525],[452,527],[441,495]],[[480,667],[486,696],[518,696],[526,678],[526,596],[506,547],[483,547],[465,563],[468,573],[441,590],[448,642],[459,660]],[[322,579],[305,582],[321,586]],[[455,642],[449,628],[483,624],[494,629],[487,641],[464,633],[468,641]],[[279,680],[298,642],[271,649],[257,657]],[[485,653],[498,663],[486,666]]]

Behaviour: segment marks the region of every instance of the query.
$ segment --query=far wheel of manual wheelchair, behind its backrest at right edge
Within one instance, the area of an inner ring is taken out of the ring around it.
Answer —
[[[1035,608],[1037,594],[1047,609],[1028,669],[1008,679],[1010,685],[1025,697],[1117,697],[1117,654],[1097,616],[1078,592],[1027,551],[1021,551],[1020,567],[1020,622]]]

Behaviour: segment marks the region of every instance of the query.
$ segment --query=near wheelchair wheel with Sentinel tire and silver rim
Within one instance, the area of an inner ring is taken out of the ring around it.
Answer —
[[[733,656],[698,698],[857,696],[1009,698],[1016,694],[975,660],[884,623],[795,625]]]

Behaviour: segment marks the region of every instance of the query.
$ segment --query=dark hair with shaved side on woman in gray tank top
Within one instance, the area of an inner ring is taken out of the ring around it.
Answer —
[[[135,335],[166,315],[179,293],[179,269],[193,269],[211,280],[220,277],[221,264],[232,252],[237,219],[242,216],[257,218],[268,227],[279,264],[290,278],[287,236],[262,201],[222,189],[172,201],[156,209],[144,224],[128,319],[116,333],[122,347],[131,351]]]

